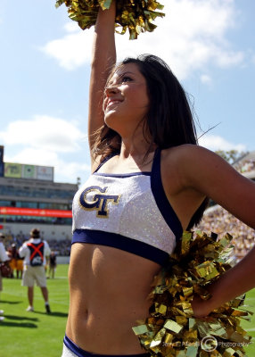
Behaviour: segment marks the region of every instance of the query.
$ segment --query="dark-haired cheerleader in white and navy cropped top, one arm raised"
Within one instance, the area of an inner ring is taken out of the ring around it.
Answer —
[[[115,2],[98,13],[91,63],[91,176],[73,200],[70,311],[62,357],[149,356],[132,327],[145,320],[154,276],[208,197],[255,228],[255,184],[197,145],[168,65],[153,55],[116,66]],[[255,286],[255,249],[193,299],[207,316]],[[238,284],[237,284],[238,282]]]

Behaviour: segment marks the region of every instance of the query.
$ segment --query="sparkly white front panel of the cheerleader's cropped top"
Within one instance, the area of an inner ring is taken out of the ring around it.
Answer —
[[[169,254],[176,245],[152,195],[151,177],[144,174],[92,175],[73,200],[75,229],[119,234]]]

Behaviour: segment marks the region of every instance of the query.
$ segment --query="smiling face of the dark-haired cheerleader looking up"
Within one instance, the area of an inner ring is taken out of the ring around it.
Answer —
[[[136,63],[127,63],[114,72],[105,88],[103,112],[105,123],[119,131],[123,125],[144,120],[149,109],[146,80]]]

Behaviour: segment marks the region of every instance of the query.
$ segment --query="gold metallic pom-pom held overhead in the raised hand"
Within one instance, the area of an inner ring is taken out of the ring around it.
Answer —
[[[99,7],[109,9],[111,0],[57,0],[55,6],[62,4],[68,7],[71,20],[77,21],[81,29],[89,29],[95,25]],[[141,32],[152,32],[157,27],[152,21],[165,16],[159,12],[163,7],[155,0],[117,0],[116,32],[124,34],[128,29],[129,39],[136,39]]]

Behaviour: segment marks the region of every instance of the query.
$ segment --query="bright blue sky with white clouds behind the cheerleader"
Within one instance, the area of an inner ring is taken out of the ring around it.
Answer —
[[[152,33],[116,35],[118,61],[159,55],[191,99],[199,135],[206,132],[200,145],[254,151],[254,0],[159,2],[166,16]],[[53,166],[54,181],[84,182],[94,28],[79,29],[54,4],[0,2],[0,145],[4,162]]]

